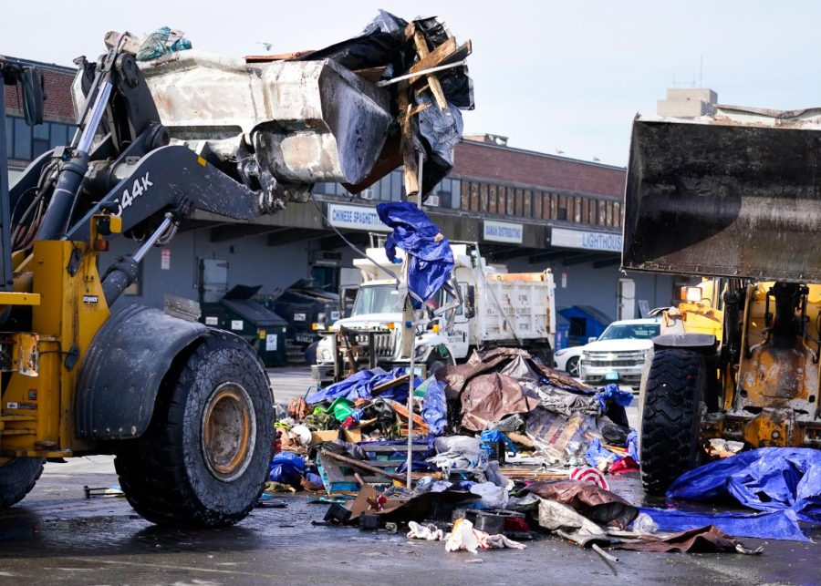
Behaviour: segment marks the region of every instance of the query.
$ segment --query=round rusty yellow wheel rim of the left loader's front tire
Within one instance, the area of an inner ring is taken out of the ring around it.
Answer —
[[[214,478],[242,476],[254,455],[256,417],[251,397],[236,383],[218,386],[203,415],[203,455]]]

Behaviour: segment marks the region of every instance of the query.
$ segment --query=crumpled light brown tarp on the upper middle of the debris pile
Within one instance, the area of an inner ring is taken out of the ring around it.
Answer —
[[[487,421],[527,413],[539,405],[539,397],[516,379],[493,373],[473,377],[462,391],[462,427],[482,431]]]

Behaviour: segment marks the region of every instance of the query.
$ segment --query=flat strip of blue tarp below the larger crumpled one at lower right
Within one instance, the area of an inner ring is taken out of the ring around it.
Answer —
[[[660,531],[687,531],[714,525],[733,537],[753,537],[759,540],[809,541],[798,518],[790,509],[766,513],[701,513],[676,509],[639,510],[650,515]]]

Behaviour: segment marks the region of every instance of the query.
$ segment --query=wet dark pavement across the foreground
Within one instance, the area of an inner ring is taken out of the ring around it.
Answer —
[[[85,485],[116,482],[106,457],[47,465],[32,494],[0,513],[0,584],[819,581],[817,543],[743,539],[753,548],[764,545],[757,557],[615,551],[614,565],[554,538],[530,541],[526,550],[448,553],[441,542],[401,533],[314,526],[327,504],[310,504],[306,496],[284,497],[286,509],[255,509],[229,529],[161,529],[134,514],[125,499],[84,496]],[[627,499],[642,500],[638,479],[613,478],[612,484]],[[821,539],[821,531],[813,537]]]

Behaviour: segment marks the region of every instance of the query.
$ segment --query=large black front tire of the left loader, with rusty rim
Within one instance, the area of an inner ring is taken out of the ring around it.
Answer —
[[[231,525],[265,488],[274,408],[265,369],[233,334],[212,332],[165,376],[151,426],[117,453],[131,507],[153,523]]]

